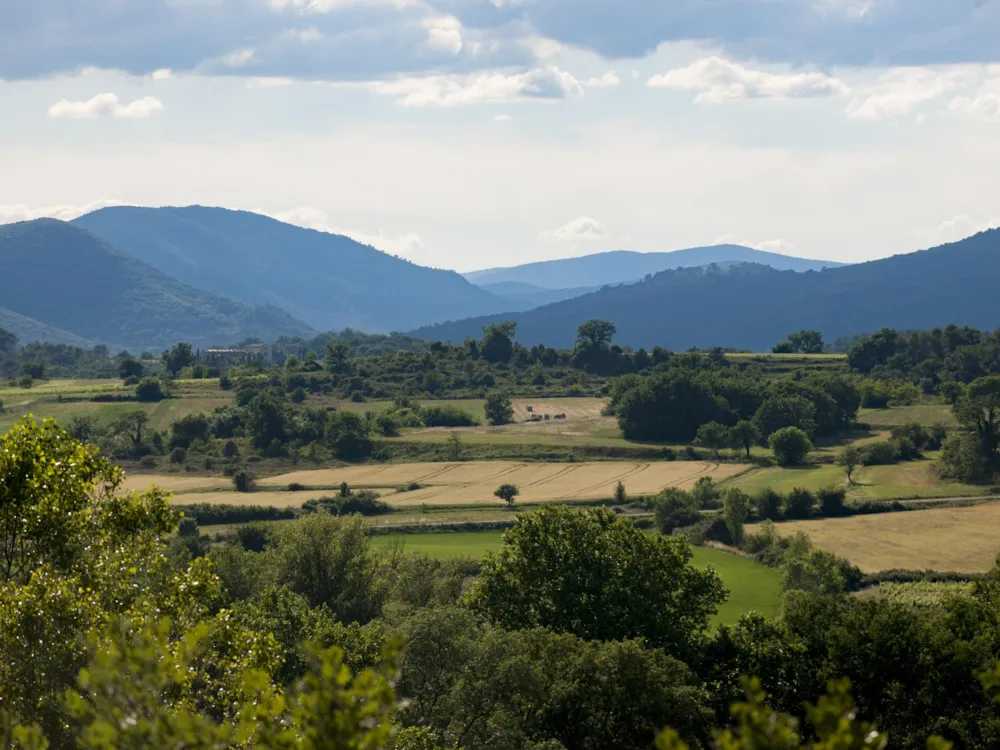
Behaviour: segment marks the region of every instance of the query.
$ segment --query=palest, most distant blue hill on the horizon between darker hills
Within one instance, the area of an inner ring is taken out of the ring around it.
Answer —
[[[543,260],[511,268],[473,271],[465,278],[480,286],[501,282],[520,282],[545,289],[601,287],[605,284],[632,283],[651,273],[675,268],[707,266],[712,263],[760,263],[779,271],[819,271],[843,265],[825,260],[793,258],[779,253],[754,250],[742,245],[711,245],[673,250],[664,253],[636,253],[613,250],[580,258]],[[491,288],[491,287],[487,287]]]

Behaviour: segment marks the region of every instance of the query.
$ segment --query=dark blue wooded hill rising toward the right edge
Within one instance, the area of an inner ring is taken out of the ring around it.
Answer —
[[[827,341],[883,326],[928,329],[956,323],[1000,327],[1000,229],[961,242],[823,271],[762,265],[664,271],[637,284],[528,312],[423,328],[414,335],[459,342],[495,320],[518,324],[526,345],[572,346],[591,318],[613,322],[615,341],[635,348],[724,346],[762,351],[801,329]]]

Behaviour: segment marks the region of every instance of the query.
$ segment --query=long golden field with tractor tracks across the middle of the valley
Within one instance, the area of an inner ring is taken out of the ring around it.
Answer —
[[[703,476],[717,481],[745,467],[701,461],[657,463],[520,463],[514,461],[470,461],[461,463],[388,464],[349,466],[339,469],[295,471],[258,482],[253,493],[219,491],[226,480],[171,475],[143,475],[128,479],[128,486],[141,489],[155,484],[178,493],[177,503],[231,503],[236,505],[297,506],[306,500],[333,494],[346,482],[352,489],[373,489],[395,507],[420,505],[488,505],[499,501],[493,495],[498,485],[516,484],[518,502],[596,500],[614,494],[618,482],[630,495],[651,495],[665,487],[689,489]],[[289,492],[290,484],[305,490]],[[397,492],[411,483],[420,489]]]

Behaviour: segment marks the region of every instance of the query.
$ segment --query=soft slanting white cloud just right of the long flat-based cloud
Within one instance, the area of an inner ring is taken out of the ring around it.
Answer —
[[[921,105],[954,91],[973,75],[965,67],[891,68],[874,85],[857,92],[847,106],[847,116],[858,120],[908,117]]]

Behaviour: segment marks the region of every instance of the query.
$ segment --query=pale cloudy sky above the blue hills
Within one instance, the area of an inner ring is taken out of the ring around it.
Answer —
[[[1000,225],[997,174],[1000,0],[0,2],[0,223],[201,204],[459,271],[858,262]]]

